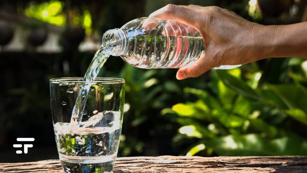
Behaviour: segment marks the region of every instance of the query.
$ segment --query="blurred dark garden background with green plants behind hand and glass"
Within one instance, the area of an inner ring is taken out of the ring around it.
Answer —
[[[82,77],[102,34],[169,4],[220,6],[264,25],[307,21],[306,0],[1,0],[0,162],[58,159],[49,79]],[[307,155],[307,61],[270,58],[178,81],[111,57],[126,80],[118,157]],[[33,137],[17,155],[17,137]]]

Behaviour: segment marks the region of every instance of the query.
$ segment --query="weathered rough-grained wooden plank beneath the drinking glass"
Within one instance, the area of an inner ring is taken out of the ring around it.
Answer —
[[[0,172],[62,173],[59,160],[0,163]],[[307,156],[272,157],[122,157],[114,173],[124,172],[307,172]]]

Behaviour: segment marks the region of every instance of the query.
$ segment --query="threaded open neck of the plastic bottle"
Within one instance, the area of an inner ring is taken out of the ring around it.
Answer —
[[[124,54],[128,48],[128,36],[121,29],[107,30],[102,36],[102,44],[105,50],[113,56]]]

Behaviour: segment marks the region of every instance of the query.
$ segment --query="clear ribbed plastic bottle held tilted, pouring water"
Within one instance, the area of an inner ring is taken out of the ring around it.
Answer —
[[[181,68],[200,58],[204,41],[200,33],[174,20],[134,19],[120,29],[107,30],[102,42],[105,50],[139,68]],[[217,66],[231,69],[235,66]]]

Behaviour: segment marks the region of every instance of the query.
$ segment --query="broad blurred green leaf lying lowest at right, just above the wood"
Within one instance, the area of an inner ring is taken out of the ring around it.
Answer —
[[[293,134],[271,140],[258,134],[227,135],[205,145],[221,156],[307,155],[307,140]]]

